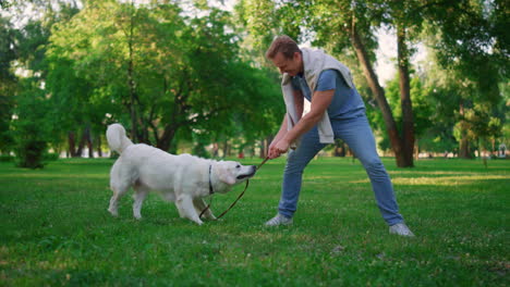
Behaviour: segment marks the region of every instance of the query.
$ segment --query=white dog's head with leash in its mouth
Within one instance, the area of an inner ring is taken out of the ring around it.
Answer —
[[[220,161],[214,166],[220,182],[233,186],[253,177],[257,167],[255,165],[242,165],[234,161]],[[221,192],[221,190],[218,190]],[[224,190],[224,192],[228,190]]]

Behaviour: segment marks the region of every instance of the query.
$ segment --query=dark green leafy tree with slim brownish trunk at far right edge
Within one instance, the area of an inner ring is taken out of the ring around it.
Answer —
[[[482,111],[494,116],[494,107],[501,101],[498,84],[508,83],[510,39],[506,29],[510,23],[507,13],[505,1],[459,1],[456,9],[439,10],[429,16],[434,36],[428,41],[435,48],[436,60],[456,75],[458,91],[462,91],[454,101],[461,158],[472,158],[470,145],[474,141],[469,118],[488,118],[472,117]],[[493,107],[491,111],[482,108],[487,105]],[[488,123],[485,122],[486,128],[491,129]]]

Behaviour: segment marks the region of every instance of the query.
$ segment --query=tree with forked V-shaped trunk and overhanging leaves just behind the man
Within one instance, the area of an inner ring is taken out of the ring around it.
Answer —
[[[241,5],[245,10],[243,15],[247,17],[246,23],[255,34],[271,30],[274,34],[283,33],[300,38],[299,36],[303,32],[301,27],[304,27],[314,33],[314,43],[326,47],[333,53],[342,53],[347,48],[351,48],[359,59],[368,86],[382,113],[398,166],[413,166],[414,123],[409,92],[410,52],[406,47],[406,32],[403,28],[405,26],[403,23],[406,20],[405,13],[399,14],[401,22],[397,22],[397,24],[389,22],[398,20],[396,14],[402,12],[401,9],[397,10],[391,1],[245,0],[241,2]],[[404,115],[402,136],[399,136],[397,123],[385,97],[385,91],[373,67],[374,49],[377,47],[373,30],[382,25],[385,21],[399,27],[399,71]],[[307,37],[309,35],[304,35],[302,38],[306,39]]]

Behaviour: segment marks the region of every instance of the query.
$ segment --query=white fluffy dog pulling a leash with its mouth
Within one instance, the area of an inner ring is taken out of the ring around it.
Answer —
[[[135,219],[142,219],[142,203],[147,194],[157,190],[163,199],[175,202],[181,217],[201,225],[198,214],[206,208],[204,197],[224,194],[256,172],[255,165],[243,166],[233,161],[206,160],[190,154],[173,155],[144,144],[133,145],[120,124],[108,126],[107,139],[110,149],[121,154],[110,172],[113,196],[108,211],[113,216],[119,214],[120,198],[132,186]],[[210,210],[204,216],[216,219]]]

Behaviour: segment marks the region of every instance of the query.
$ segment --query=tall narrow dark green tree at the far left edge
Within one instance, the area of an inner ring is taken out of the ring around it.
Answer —
[[[13,20],[20,17],[19,10],[27,4],[27,1],[20,1],[19,4],[12,11]],[[2,57],[1,68],[2,72],[8,71],[2,73],[2,76],[7,75],[7,77],[3,78],[5,82],[2,80],[1,86],[16,85],[15,88],[7,89],[11,93],[9,103],[12,112],[5,113],[11,117],[10,134],[13,135],[15,142],[15,153],[20,166],[33,169],[42,167],[42,155],[49,138],[48,117],[46,116],[49,112],[48,101],[44,91],[46,76],[44,45],[49,36],[49,27],[54,21],[51,16],[54,13],[51,9],[46,11],[47,14],[42,14],[46,13],[44,9],[41,11],[40,14],[31,15],[32,17],[20,30],[11,29],[5,35],[4,43],[9,45],[11,52],[5,53],[8,57]],[[10,24],[2,20],[2,30],[5,27],[9,29]],[[26,75],[15,78],[12,72],[9,72],[15,70]]]

